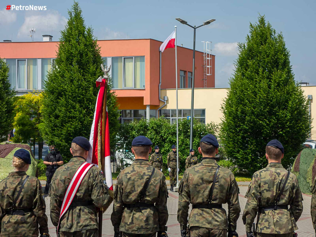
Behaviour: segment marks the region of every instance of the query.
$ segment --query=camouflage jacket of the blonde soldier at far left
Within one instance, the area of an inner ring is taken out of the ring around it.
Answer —
[[[46,205],[42,196],[40,180],[30,176],[16,202],[17,210],[32,209],[24,216],[6,215],[5,210],[13,206],[21,185],[27,174],[24,171],[9,173],[0,182],[0,222],[1,236],[39,236],[48,233]]]

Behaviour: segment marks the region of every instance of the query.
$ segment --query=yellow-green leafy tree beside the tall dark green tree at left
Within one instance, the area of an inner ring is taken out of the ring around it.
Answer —
[[[34,142],[40,137],[42,99],[43,96],[39,93],[27,93],[15,98],[13,121],[15,136],[13,142],[29,143],[31,139]]]

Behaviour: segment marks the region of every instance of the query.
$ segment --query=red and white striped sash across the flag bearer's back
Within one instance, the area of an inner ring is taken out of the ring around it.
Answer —
[[[64,216],[64,214],[66,213],[66,211],[68,210],[72,200],[74,199],[76,192],[81,184],[81,181],[83,179],[83,177],[86,175],[86,173],[88,172],[88,170],[93,167],[93,164],[89,164],[87,162],[84,162],[76,171],[74,177],[72,177],[70,184],[68,185],[65,197],[64,197],[64,201],[63,201],[63,205],[61,206],[60,209],[60,216],[59,216],[59,221],[58,221],[58,226],[57,226],[57,233],[58,234],[58,229],[59,229],[59,225],[60,225],[60,220],[62,218],[62,216]]]

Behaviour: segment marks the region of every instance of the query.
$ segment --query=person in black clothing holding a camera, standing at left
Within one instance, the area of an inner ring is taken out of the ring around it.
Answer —
[[[55,173],[56,169],[64,164],[63,157],[60,155],[60,153],[56,152],[55,146],[51,145],[49,147],[49,150],[51,151],[48,153],[44,158],[44,165],[46,165],[46,186],[44,189],[44,195],[48,195],[49,186],[52,181],[53,174]]]

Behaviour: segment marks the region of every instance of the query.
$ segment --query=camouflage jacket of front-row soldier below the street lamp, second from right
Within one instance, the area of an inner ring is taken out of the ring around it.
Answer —
[[[179,185],[178,222],[188,222],[189,204],[208,204],[211,186],[217,168],[214,159],[204,158],[203,161],[188,168]],[[192,209],[189,226],[212,229],[236,230],[240,215],[238,199],[239,189],[234,174],[220,167],[213,192],[212,204],[228,204],[228,216],[224,208]]]

